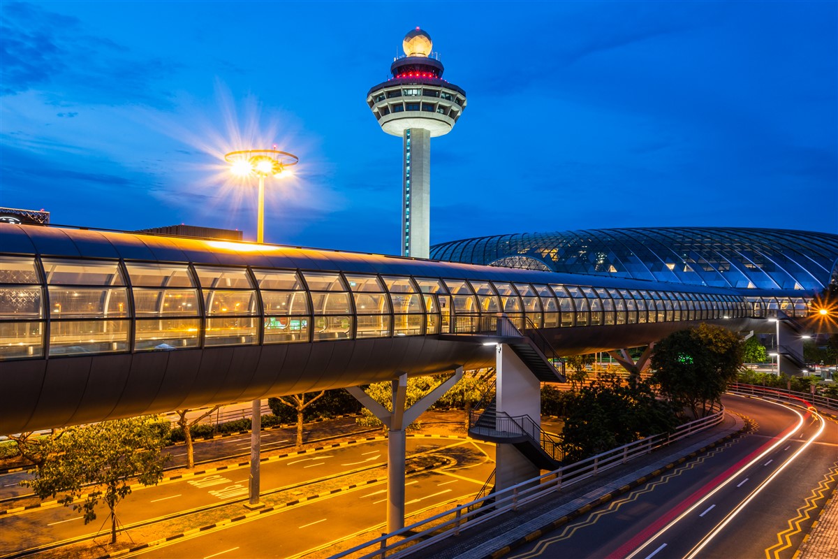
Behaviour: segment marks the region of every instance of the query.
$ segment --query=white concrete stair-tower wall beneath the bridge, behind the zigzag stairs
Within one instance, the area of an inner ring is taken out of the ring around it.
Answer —
[[[510,417],[530,416],[541,427],[541,383],[507,344],[497,346],[495,375],[498,421],[503,413]],[[538,474],[541,474],[541,470],[515,446],[505,443],[497,445],[494,472],[496,490],[520,484]]]

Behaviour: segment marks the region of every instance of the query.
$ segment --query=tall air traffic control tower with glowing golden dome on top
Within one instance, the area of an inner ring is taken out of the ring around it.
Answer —
[[[406,34],[393,77],[367,93],[381,129],[404,142],[401,255],[417,258],[427,258],[431,244],[431,138],[451,132],[466,106],[466,92],[442,79],[432,45],[420,28]]]

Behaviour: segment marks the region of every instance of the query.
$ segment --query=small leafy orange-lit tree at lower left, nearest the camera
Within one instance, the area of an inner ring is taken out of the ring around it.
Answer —
[[[64,494],[58,502],[83,511],[85,524],[96,520],[95,507],[104,500],[110,510],[111,543],[116,543],[116,505],[131,494],[134,479],[143,485],[163,479],[168,431],[168,422],[151,416],[70,427],[62,437],[44,443],[47,458],[35,469],[34,479],[22,483],[40,499]],[[83,490],[84,500],[76,503]]]

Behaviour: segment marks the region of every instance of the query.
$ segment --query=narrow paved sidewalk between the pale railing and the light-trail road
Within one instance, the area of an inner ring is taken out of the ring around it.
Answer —
[[[736,436],[744,428],[745,423],[740,417],[727,414],[722,424],[696,437],[679,441],[668,448],[609,470],[600,478],[593,478],[566,492],[562,491],[554,498],[546,499],[546,502],[533,505],[515,515],[504,515],[470,530],[463,530],[460,536],[447,538],[422,549],[417,555],[423,559],[483,559],[489,556],[504,556],[516,546],[532,541],[594,506],[634,489],[666,469],[673,468],[707,448]],[[487,540],[487,534],[498,536]]]

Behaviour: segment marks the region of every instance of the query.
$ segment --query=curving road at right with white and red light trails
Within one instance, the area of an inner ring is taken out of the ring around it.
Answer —
[[[838,423],[738,396],[725,396],[724,403],[756,422],[755,431],[591,510],[511,557],[792,557],[824,505],[823,495],[835,487]]]

